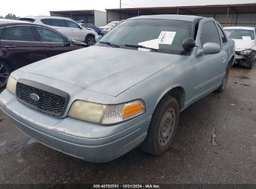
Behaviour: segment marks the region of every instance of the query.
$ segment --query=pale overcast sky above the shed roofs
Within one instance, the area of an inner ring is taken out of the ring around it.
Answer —
[[[256,0],[121,0],[121,7],[161,7],[161,6],[195,6],[209,4],[242,4],[256,3]],[[47,16],[49,11],[116,9],[120,0],[12,0],[3,1],[0,16],[8,13],[16,16]]]

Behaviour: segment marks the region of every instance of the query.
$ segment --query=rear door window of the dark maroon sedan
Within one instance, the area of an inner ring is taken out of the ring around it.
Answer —
[[[5,27],[2,32],[2,40],[18,40],[25,42],[36,42],[30,26]]]

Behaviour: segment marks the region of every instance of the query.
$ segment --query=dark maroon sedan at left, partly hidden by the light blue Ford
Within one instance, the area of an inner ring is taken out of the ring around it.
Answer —
[[[44,25],[0,19],[0,88],[17,68],[87,46]]]

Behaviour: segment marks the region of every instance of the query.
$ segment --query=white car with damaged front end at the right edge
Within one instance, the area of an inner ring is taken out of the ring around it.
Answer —
[[[256,59],[256,29],[255,27],[224,27],[229,39],[235,41],[235,63],[249,69]]]

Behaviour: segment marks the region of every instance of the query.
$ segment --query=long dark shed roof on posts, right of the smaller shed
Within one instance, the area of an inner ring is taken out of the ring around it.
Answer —
[[[176,7],[138,7],[123,9],[106,9],[106,11],[120,12],[129,15],[150,14],[249,14],[256,13],[256,3],[251,4],[221,4],[207,6],[176,6]]]

